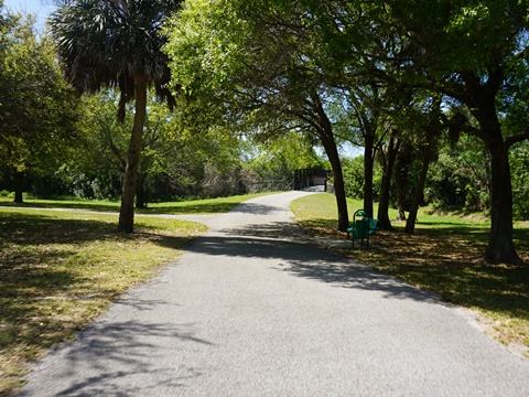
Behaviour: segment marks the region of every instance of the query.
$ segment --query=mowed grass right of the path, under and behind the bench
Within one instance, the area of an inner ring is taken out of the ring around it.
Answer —
[[[349,217],[361,202],[349,201]],[[294,201],[292,211],[309,233],[345,239],[336,230],[336,202],[330,194]],[[376,212],[375,212],[376,213]],[[390,213],[396,218],[397,213]],[[415,233],[378,232],[369,249],[355,245],[344,254],[410,285],[435,292],[441,300],[476,311],[489,334],[529,357],[529,224],[515,225],[515,246],[526,266],[488,265],[485,218],[421,211]]]

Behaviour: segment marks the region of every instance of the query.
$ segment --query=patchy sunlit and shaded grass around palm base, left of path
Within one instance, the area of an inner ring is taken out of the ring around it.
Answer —
[[[0,208],[0,396],[28,364],[175,260],[201,224],[142,216],[132,235],[117,215]]]

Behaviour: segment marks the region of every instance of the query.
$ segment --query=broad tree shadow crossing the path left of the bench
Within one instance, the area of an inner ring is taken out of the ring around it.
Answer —
[[[247,225],[223,232],[201,238],[188,250],[213,257],[263,259],[263,265],[272,259],[278,270],[333,287],[381,291],[387,298],[438,301],[430,292],[324,248],[290,222]]]

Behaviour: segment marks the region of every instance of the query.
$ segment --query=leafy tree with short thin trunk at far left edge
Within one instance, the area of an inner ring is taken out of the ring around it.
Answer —
[[[7,14],[0,58],[0,174],[14,182],[22,203],[24,176],[56,169],[74,146],[76,101],[56,66],[48,36],[32,15]]]

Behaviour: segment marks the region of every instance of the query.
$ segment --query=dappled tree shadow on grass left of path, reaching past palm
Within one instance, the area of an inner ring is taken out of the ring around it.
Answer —
[[[94,286],[94,280],[82,276],[89,273],[83,267],[93,266],[90,254],[83,247],[132,240],[182,249],[192,239],[145,232],[118,234],[115,222],[1,212],[0,353],[29,346],[23,357],[33,360],[41,347],[54,345],[84,324],[85,320],[75,314],[64,318],[65,308],[78,300],[97,307],[120,292],[114,287]]]

